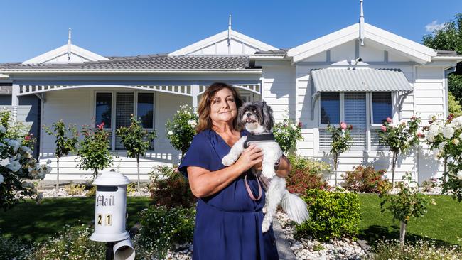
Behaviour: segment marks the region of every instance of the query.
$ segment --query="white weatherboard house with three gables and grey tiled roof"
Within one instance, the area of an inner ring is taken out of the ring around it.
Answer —
[[[147,179],[159,164],[178,163],[166,139],[165,124],[183,104],[196,107],[212,82],[229,82],[246,101],[265,100],[276,120],[290,117],[303,124],[297,152],[331,161],[328,123],[353,124],[353,146],[340,157],[339,172],[370,164],[387,168],[391,157],[378,143],[382,120],[424,119],[448,114],[447,75],[462,55],[440,52],[364,23],[343,28],[289,50],[250,38],[231,26],[168,55],[102,57],[70,43],[23,63],[0,65],[0,84],[11,85],[14,117],[50,126],[63,119],[77,126],[106,123],[119,168],[136,179],[136,161],[126,158],[115,135],[131,114],[146,129],[156,129],[153,149],[141,160]],[[21,104],[36,97],[38,112]],[[0,99],[0,101],[3,99]],[[38,156],[54,159],[54,139],[39,128]],[[62,158],[60,179],[90,178],[75,156]],[[53,166],[53,165],[52,165]],[[54,165],[55,166],[55,165]],[[419,181],[441,174],[439,162],[424,152],[400,158],[397,180],[410,171]],[[55,180],[55,169],[47,180]]]

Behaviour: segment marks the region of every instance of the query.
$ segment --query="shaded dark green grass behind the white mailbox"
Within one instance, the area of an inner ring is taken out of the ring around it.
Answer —
[[[137,212],[148,207],[149,197],[127,197],[127,229],[137,222]],[[95,197],[67,197],[21,202],[0,211],[0,232],[4,237],[42,242],[65,227],[90,224],[95,218]]]

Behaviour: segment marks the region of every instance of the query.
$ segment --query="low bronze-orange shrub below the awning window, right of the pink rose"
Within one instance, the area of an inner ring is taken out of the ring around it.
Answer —
[[[372,166],[357,166],[352,171],[347,171],[343,177],[346,190],[360,193],[383,193],[390,190],[391,183],[384,178],[386,170],[375,171]]]

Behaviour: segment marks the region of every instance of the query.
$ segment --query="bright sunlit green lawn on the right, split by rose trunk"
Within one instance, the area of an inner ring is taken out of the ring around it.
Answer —
[[[380,213],[378,195],[360,194],[360,239],[374,244],[377,239],[399,239],[399,221],[392,222],[392,214]],[[444,195],[431,196],[436,205],[430,205],[424,217],[409,220],[407,240],[435,239],[437,244],[458,244],[462,237],[462,203]]]

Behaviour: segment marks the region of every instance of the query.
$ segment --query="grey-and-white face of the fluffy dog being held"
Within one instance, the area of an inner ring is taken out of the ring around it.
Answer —
[[[239,121],[249,132],[269,132],[274,125],[273,110],[267,102],[247,102],[239,109]]]

